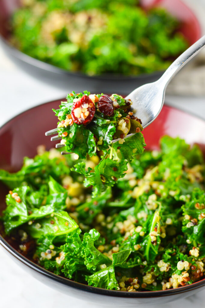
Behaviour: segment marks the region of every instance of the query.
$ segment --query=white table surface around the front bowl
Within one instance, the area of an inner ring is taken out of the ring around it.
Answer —
[[[205,74],[205,72],[204,72]],[[89,90],[89,89],[88,89]],[[14,115],[40,103],[65,97],[72,89],[58,89],[37,80],[31,75],[19,70],[3,53],[0,47],[0,126]],[[166,96],[166,102],[172,106],[193,112],[205,119],[204,97],[174,97]],[[205,307],[204,292],[169,303],[166,308],[175,305],[186,308]],[[43,285],[31,275],[18,267],[0,247],[0,302],[4,308],[34,308],[34,307],[72,307],[94,308],[95,304],[82,302],[71,298]],[[101,305],[97,307],[102,307]],[[113,307],[113,306],[112,306]],[[154,308],[156,306],[153,303]]]

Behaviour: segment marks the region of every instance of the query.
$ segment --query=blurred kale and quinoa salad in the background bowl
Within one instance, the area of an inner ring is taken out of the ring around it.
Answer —
[[[20,2],[11,19],[12,45],[68,71],[163,71],[188,47],[178,20],[161,8],[145,12],[138,0]]]

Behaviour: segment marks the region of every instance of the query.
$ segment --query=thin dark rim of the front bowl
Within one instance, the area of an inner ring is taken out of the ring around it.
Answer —
[[[64,99],[64,98],[63,98]],[[40,108],[42,105],[46,105],[48,103],[52,103],[52,102],[56,102],[56,100],[54,101],[50,101],[47,103],[43,103],[43,104],[39,104],[35,107],[29,108],[21,113],[19,113],[18,115],[16,115],[15,117],[13,117],[12,119],[10,119],[9,121],[7,121],[5,124],[3,124],[0,127],[0,133],[1,130],[10,122],[15,121],[16,118],[18,118],[19,116],[26,114],[27,111],[30,111],[32,109],[35,108]],[[170,109],[174,109],[174,110],[180,110],[179,108],[175,108],[175,107],[171,107],[168,105],[165,105],[166,107],[170,108]],[[182,112],[189,114],[189,112],[183,111]],[[195,117],[196,119],[201,119],[203,120],[203,122],[205,122],[204,119],[195,116],[193,114],[191,114],[192,117]],[[43,267],[35,264],[34,262],[32,262],[31,260],[27,259],[26,257],[24,257],[23,255],[21,255],[16,249],[14,249],[3,237],[2,235],[0,235],[0,245],[2,245],[13,257],[15,257],[16,259],[18,259],[19,261],[21,261],[23,264],[27,265],[28,267],[30,267],[31,269],[35,270],[36,272],[42,274],[43,276],[54,280],[56,282],[59,282],[63,285],[75,288],[75,289],[79,289],[79,290],[83,290],[83,291],[87,291],[87,292],[91,292],[91,293],[96,293],[96,294],[100,294],[100,295],[107,295],[107,296],[113,296],[113,297],[123,297],[123,298],[155,298],[155,297],[163,297],[163,296],[170,296],[170,295],[174,295],[174,294],[180,294],[180,293],[185,293],[188,292],[189,290],[195,290],[198,289],[202,286],[205,285],[205,278],[198,281],[198,282],[194,282],[190,285],[187,286],[181,286],[179,288],[176,289],[169,289],[169,290],[160,290],[160,291],[139,291],[139,292],[126,292],[126,291],[117,291],[117,290],[106,290],[106,289],[101,289],[101,288],[96,288],[96,287],[92,287],[92,286],[87,286],[84,285],[80,282],[74,282],[72,280],[69,280],[67,278],[58,276],[56,274],[53,274],[51,272],[49,272],[48,270],[45,270]]]

